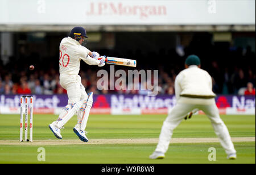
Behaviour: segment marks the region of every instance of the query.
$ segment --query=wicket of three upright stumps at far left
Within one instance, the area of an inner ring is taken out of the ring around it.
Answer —
[[[23,101],[24,99],[24,101]],[[28,105],[30,103],[30,105]],[[30,139],[27,138],[28,106],[30,106]],[[20,97],[20,130],[19,141],[23,141],[23,107],[25,107],[25,138],[26,141],[33,141],[33,96],[23,95]]]

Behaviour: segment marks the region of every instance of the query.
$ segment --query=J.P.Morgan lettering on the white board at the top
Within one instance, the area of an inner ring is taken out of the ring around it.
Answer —
[[[86,15],[118,15],[118,16],[139,16],[140,19],[147,19],[150,16],[167,15],[165,5],[134,5],[126,2],[91,2]]]

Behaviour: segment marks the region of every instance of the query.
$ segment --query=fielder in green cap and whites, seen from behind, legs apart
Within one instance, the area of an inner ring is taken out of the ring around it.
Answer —
[[[227,159],[236,159],[236,150],[229,135],[228,128],[221,120],[212,91],[212,78],[200,68],[200,59],[196,55],[188,56],[185,69],[175,79],[176,105],[163,122],[158,145],[150,159],[163,159],[170,144],[174,129],[192,113],[202,110],[210,119],[213,130],[228,155]]]

